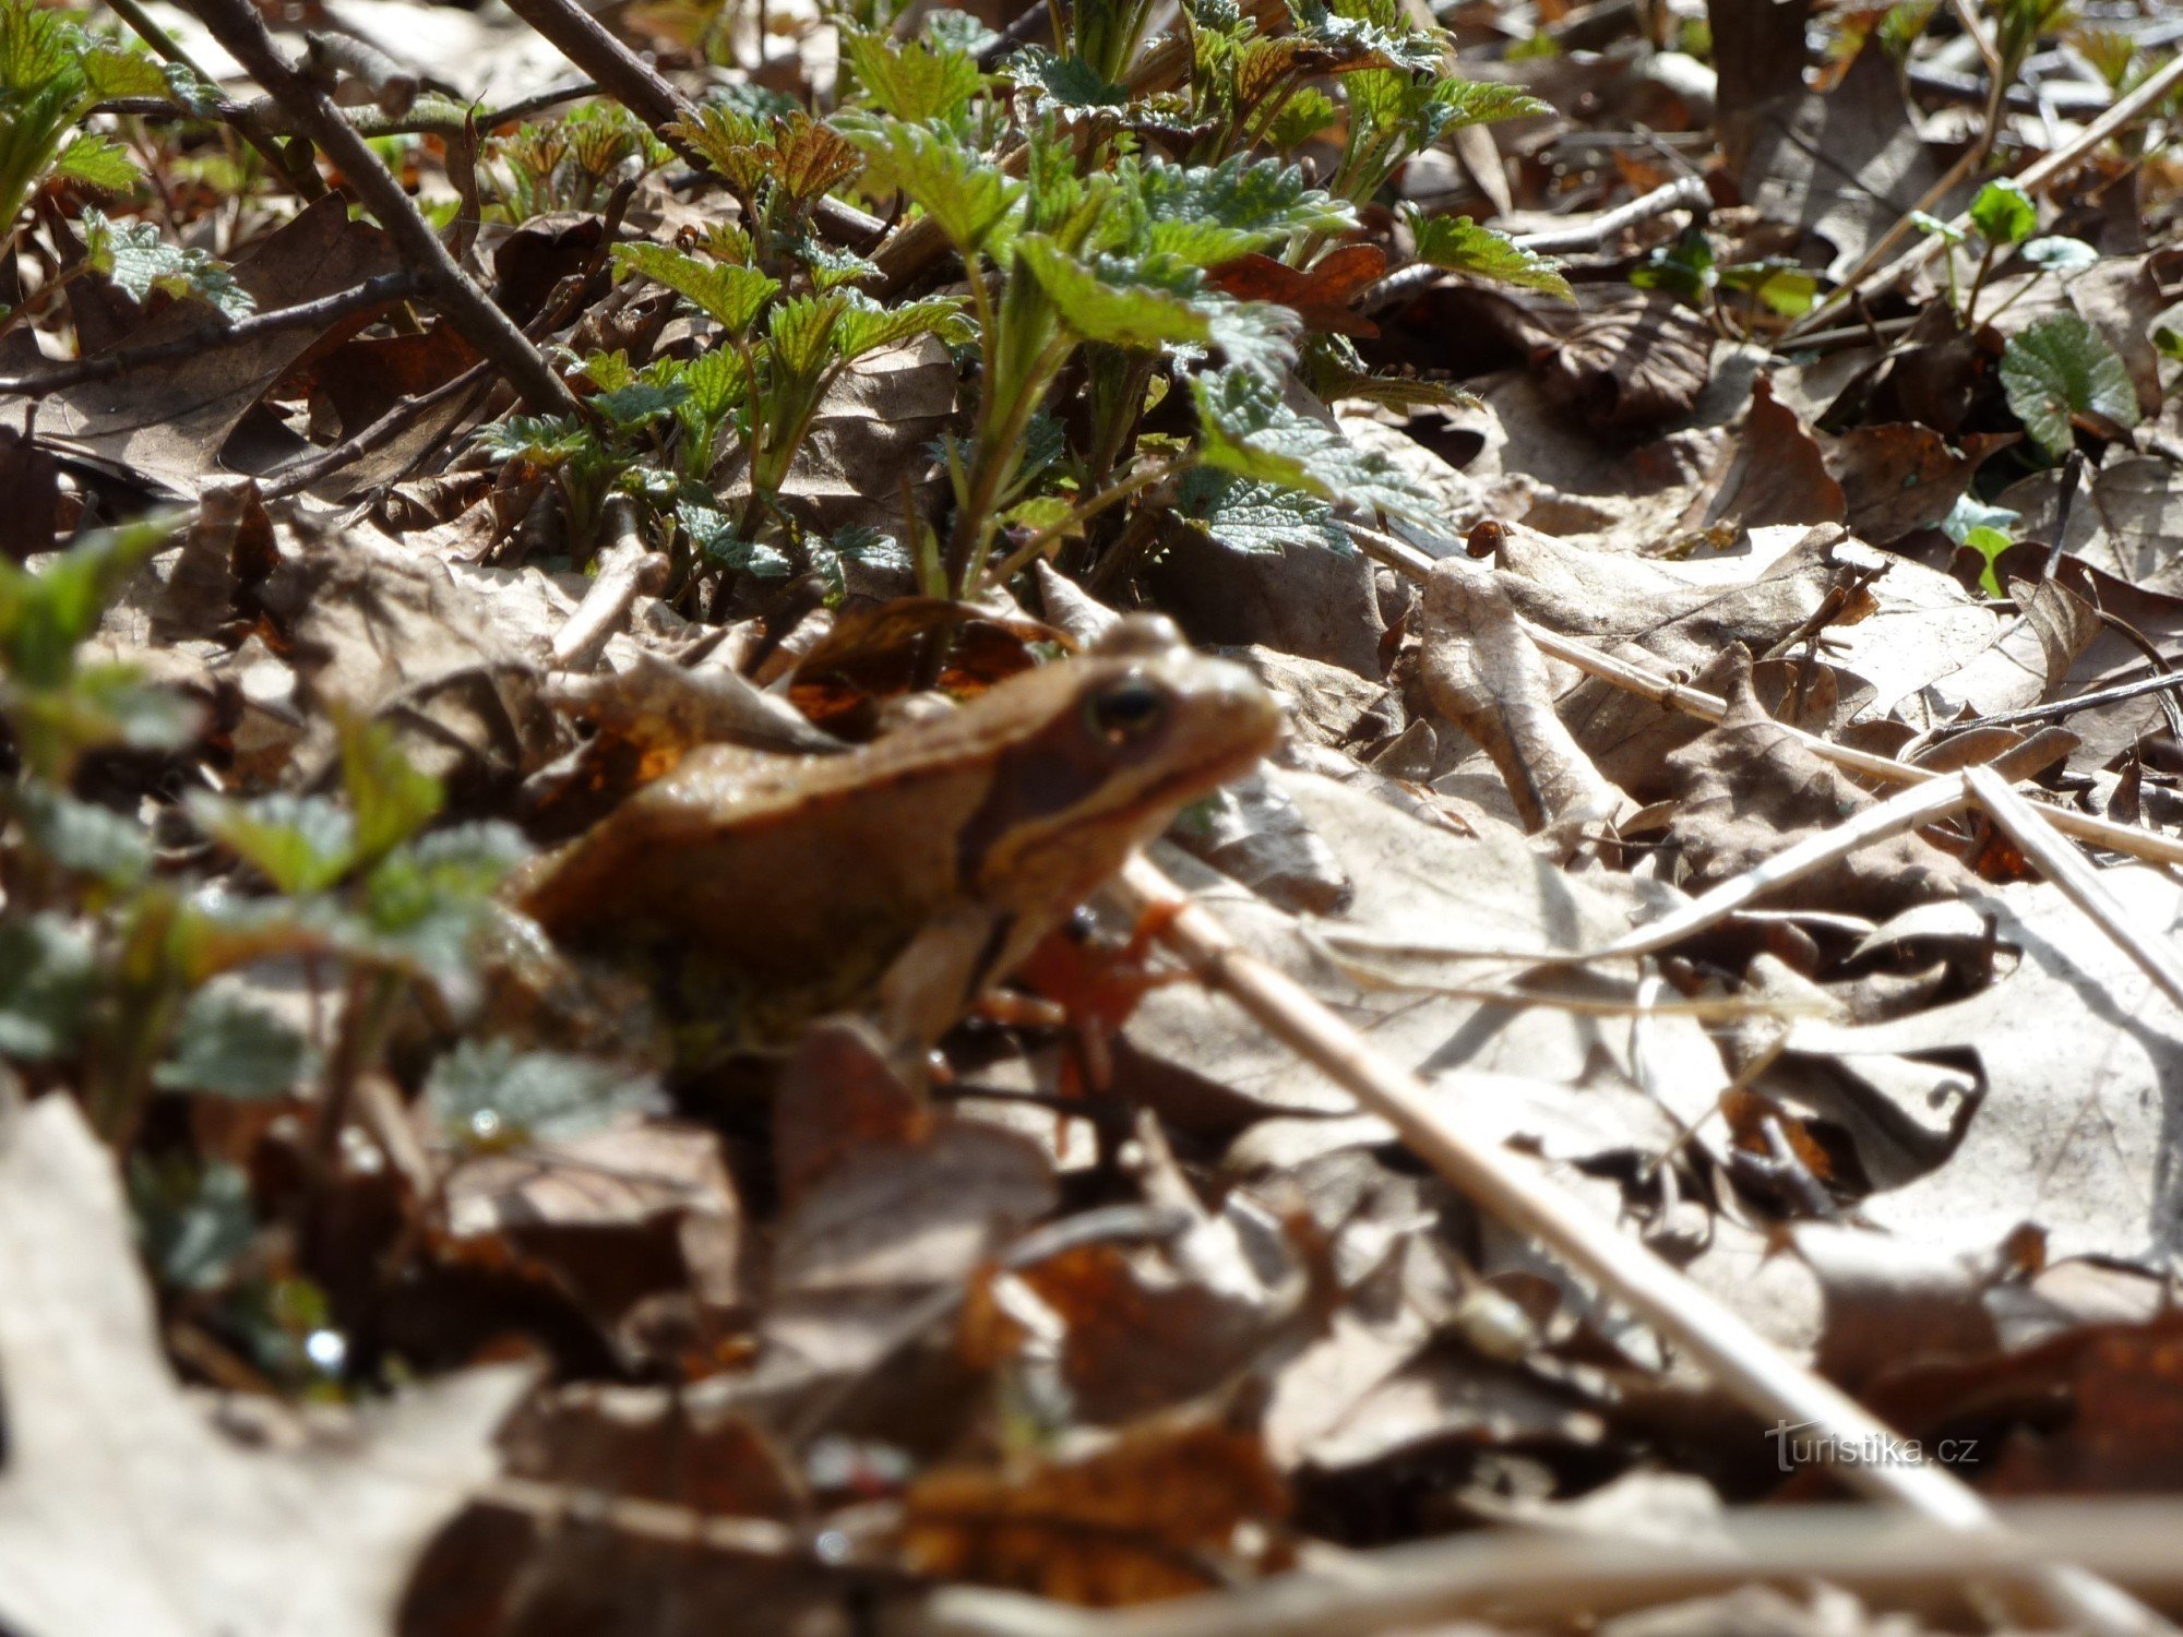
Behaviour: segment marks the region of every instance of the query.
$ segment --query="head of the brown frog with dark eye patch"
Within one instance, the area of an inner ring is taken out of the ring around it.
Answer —
[[[1009,731],[961,834],[961,880],[1054,899],[1057,912],[1181,808],[1249,773],[1284,729],[1249,670],[1192,650],[1166,620],[1126,620],[969,709]]]

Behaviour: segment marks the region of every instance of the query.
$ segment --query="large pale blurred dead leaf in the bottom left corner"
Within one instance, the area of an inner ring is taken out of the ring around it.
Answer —
[[[120,1179],[76,1104],[0,1111],[0,1622],[22,1637],[384,1637],[528,1382],[476,1369],[338,1438],[227,1438],[159,1353]]]

